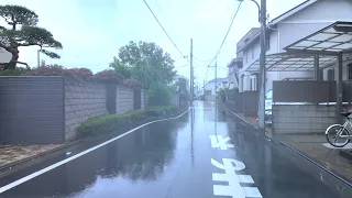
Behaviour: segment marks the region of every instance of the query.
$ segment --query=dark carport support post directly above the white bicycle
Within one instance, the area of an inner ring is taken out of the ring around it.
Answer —
[[[338,55],[337,79],[337,122],[342,123],[342,53]]]

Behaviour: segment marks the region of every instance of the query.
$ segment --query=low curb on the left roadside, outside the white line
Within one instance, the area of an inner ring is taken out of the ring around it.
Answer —
[[[189,108],[189,106],[187,106],[187,108]],[[187,108],[183,108],[183,109],[180,109],[180,110],[177,110],[175,113],[172,113],[172,114],[168,114],[168,116],[169,116],[169,117],[179,116],[179,114],[182,114],[183,111],[184,111],[185,109],[187,109]],[[151,119],[151,120],[146,120],[145,123],[151,122],[151,121],[153,121],[153,120],[163,119],[163,118],[164,118],[164,117],[156,117],[156,118],[153,118],[153,119]],[[143,124],[143,123],[142,123],[142,124]],[[98,136],[99,136],[99,135],[98,135]],[[20,160],[20,161],[15,161],[15,162],[6,164],[6,165],[3,165],[3,166],[0,166],[0,172],[4,172],[6,169],[8,169],[8,168],[10,168],[10,167],[18,166],[18,165],[20,165],[20,164],[23,164],[23,163],[26,163],[26,162],[29,162],[29,161],[38,158],[38,157],[41,157],[41,156],[52,154],[52,153],[57,152],[57,151],[59,151],[59,150],[65,150],[65,148],[67,148],[67,147],[74,146],[74,145],[76,145],[76,144],[78,144],[78,143],[85,142],[85,141],[87,141],[87,140],[89,140],[89,138],[87,138],[87,139],[81,139],[81,140],[76,140],[76,141],[69,142],[69,143],[67,143],[67,144],[63,144],[62,146],[55,147],[55,148],[53,148],[53,150],[48,150],[48,151],[45,151],[45,152],[43,152],[43,153],[38,153],[38,154],[36,154],[36,155],[22,158],[22,160]],[[99,140],[98,140],[98,141],[99,141]]]

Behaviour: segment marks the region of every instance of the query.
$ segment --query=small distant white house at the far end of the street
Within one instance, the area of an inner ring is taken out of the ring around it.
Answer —
[[[215,101],[216,95],[220,89],[229,88],[228,78],[216,78],[205,85],[206,100]]]

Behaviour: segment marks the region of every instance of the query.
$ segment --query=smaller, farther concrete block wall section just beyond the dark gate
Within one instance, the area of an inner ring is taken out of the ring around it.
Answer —
[[[134,110],[133,89],[124,86],[118,86],[117,95],[118,114]]]

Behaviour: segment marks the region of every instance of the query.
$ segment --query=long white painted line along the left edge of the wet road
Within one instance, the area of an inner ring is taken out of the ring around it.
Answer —
[[[30,180],[30,179],[32,179],[32,178],[35,178],[35,177],[37,177],[37,176],[40,176],[40,175],[42,175],[42,174],[44,174],[44,173],[46,173],[46,172],[48,172],[48,170],[52,170],[52,169],[54,169],[54,168],[56,168],[56,167],[58,167],[58,166],[61,166],[61,165],[64,165],[64,164],[73,161],[73,160],[75,160],[75,158],[78,158],[78,157],[80,157],[80,156],[82,156],[82,155],[86,155],[87,153],[90,153],[90,152],[92,152],[92,151],[95,151],[95,150],[98,150],[99,147],[102,147],[102,146],[105,146],[105,145],[107,145],[107,144],[109,144],[109,143],[111,143],[111,142],[113,142],[113,141],[117,141],[117,140],[119,140],[119,139],[121,139],[121,138],[123,138],[123,136],[125,136],[125,135],[128,135],[128,134],[130,134],[130,133],[133,133],[134,131],[136,131],[136,130],[139,130],[139,129],[141,129],[141,128],[143,128],[143,127],[145,127],[145,125],[148,125],[148,124],[152,124],[152,123],[155,123],[155,122],[162,122],[162,121],[166,121],[166,120],[178,119],[178,118],[183,117],[186,112],[188,112],[189,109],[190,109],[190,107],[189,107],[185,112],[183,112],[180,116],[178,116],[178,117],[168,118],[168,119],[162,119],[162,120],[155,120],[155,121],[152,121],[152,122],[142,124],[142,125],[140,125],[140,127],[138,127],[138,128],[134,128],[134,129],[132,129],[132,130],[130,130],[130,131],[128,131],[128,132],[125,132],[125,133],[123,133],[123,134],[121,134],[121,135],[119,135],[119,136],[116,136],[116,138],[113,138],[113,139],[110,139],[110,140],[108,140],[107,142],[103,142],[103,143],[101,143],[101,144],[98,144],[98,145],[96,145],[96,146],[94,146],[94,147],[91,147],[91,148],[89,148],[89,150],[86,150],[86,151],[84,151],[84,152],[80,152],[80,153],[78,153],[78,154],[76,154],[76,155],[74,155],[74,156],[70,156],[70,157],[68,157],[68,158],[66,158],[66,160],[64,160],[64,161],[61,161],[61,162],[55,163],[55,164],[53,164],[53,165],[51,165],[51,166],[47,166],[46,168],[43,168],[43,169],[41,169],[41,170],[37,170],[37,172],[35,172],[35,173],[32,173],[31,175],[28,175],[28,176],[25,176],[25,177],[22,177],[22,178],[15,180],[15,182],[13,182],[13,183],[10,183],[10,184],[8,184],[8,185],[6,185],[6,186],[2,186],[2,187],[0,188],[0,194],[4,193],[4,191],[7,191],[7,190],[9,190],[9,189],[11,189],[11,188],[14,188],[14,187],[19,186],[20,184],[23,184],[23,183],[25,183],[25,182],[28,182],[28,180]]]

